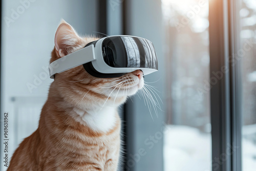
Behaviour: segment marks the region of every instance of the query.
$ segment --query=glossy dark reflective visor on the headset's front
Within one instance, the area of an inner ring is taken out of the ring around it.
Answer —
[[[158,70],[157,54],[151,41],[130,36],[113,36],[102,42],[103,59],[114,68]]]

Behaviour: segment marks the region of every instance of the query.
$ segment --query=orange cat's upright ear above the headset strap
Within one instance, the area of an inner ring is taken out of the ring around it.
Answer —
[[[55,51],[59,57],[66,56],[77,46],[80,37],[64,19],[61,20],[55,33]]]

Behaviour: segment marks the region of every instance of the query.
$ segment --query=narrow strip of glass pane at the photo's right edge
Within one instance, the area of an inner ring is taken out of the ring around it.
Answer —
[[[243,0],[240,7],[242,61],[242,167],[256,168],[256,2]]]

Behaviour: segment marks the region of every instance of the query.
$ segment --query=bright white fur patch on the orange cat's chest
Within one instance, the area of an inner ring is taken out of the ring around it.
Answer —
[[[75,119],[80,123],[85,122],[94,131],[108,132],[116,123],[117,109],[110,106],[105,106],[99,111],[84,112],[77,108],[74,108],[74,111],[80,116]]]

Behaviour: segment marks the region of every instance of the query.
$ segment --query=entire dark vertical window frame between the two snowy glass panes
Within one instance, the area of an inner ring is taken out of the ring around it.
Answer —
[[[234,58],[240,48],[239,3],[209,1],[212,170],[218,171],[242,170],[241,60]],[[216,82],[214,73],[220,71]]]

